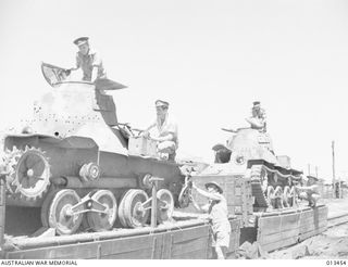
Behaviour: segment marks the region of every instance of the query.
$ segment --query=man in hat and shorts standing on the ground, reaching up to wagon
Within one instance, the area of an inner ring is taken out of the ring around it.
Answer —
[[[192,189],[209,200],[208,204],[200,206],[191,199],[194,206],[198,211],[209,214],[212,228],[212,246],[215,250],[217,259],[224,259],[229,246],[231,225],[228,221],[227,202],[222,194],[223,189],[215,181],[206,183],[208,192],[199,189],[195,183],[192,183]]]

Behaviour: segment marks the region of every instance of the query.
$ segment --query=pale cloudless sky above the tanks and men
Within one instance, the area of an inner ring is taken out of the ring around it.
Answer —
[[[40,62],[74,66],[88,36],[110,79],[120,122],[147,127],[171,103],[182,156],[213,161],[221,127],[247,127],[256,100],[275,153],[293,167],[348,177],[348,2],[344,0],[0,0],[0,127],[50,90]]]

